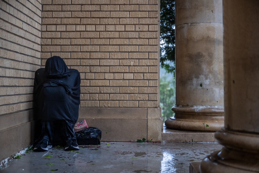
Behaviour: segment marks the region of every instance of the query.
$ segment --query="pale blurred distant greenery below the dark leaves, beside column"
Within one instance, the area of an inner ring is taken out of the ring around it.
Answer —
[[[161,72],[164,70],[161,69]],[[163,73],[160,76],[160,106],[163,121],[174,116],[171,108],[175,105],[175,78],[172,74]]]

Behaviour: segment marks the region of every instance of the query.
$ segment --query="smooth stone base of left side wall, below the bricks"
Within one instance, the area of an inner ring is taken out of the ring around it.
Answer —
[[[0,116],[0,161],[18,153],[34,141],[33,110]]]

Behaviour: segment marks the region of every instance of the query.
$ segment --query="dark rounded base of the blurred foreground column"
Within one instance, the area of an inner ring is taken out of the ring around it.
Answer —
[[[200,165],[200,172],[259,172],[259,134],[220,130],[216,138],[224,145]]]

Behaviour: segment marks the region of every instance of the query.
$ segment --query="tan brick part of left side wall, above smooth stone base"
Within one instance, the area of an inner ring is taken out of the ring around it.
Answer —
[[[34,73],[41,64],[41,7],[41,0],[0,1],[0,114],[33,108]]]

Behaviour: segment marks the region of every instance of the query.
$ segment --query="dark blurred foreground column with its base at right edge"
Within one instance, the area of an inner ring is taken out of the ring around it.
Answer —
[[[225,126],[223,145],[203,172],[259,172],[259,1],[224,0]]]

